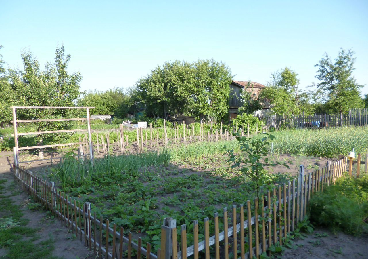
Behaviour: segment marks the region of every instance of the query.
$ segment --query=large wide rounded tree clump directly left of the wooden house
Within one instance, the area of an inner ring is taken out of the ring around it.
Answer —
[[[166,62],[137,83],[141,104],[150,117],[193,114],[225,118],[229,108],[230,69],[215,60]]]

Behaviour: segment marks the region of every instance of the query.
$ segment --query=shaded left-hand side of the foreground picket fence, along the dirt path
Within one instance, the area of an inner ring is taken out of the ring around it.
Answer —
[[[14,165],[14,176],[22,189],[29,193],[37,202],[51,211],[51,213],[60,219],[61,225],[67,227],[72,234],[84,241],[84,244],[98,258],[132,258],[132,253],[137,254],[137,258],[144,255],[146,258],[160,258],[151,252],[151,244],[147,243],[147,249],[142,247],[142,239],[138,238],[138,244],[132,241],[132,233],[124,235],[124,228],[117,229],[116,224],[109,224],[109,220],[103,220],[102,216],[98,219],[96,213],[91,215],[91,204],[86,202],[81,204],[77,200],[68,197],[67,194],[55,188],[54,182],[46,182],[33,174],[33,172]],[[78,204],[78,205],[77,205]],[[113,241],[109,244],[109,235],[112,234]]]

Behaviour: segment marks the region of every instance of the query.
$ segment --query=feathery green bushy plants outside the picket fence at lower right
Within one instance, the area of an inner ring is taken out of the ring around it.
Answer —
[[[368,175],[345,177],[315,193],[309,202],[311,221],[351,235],[368,232]]]

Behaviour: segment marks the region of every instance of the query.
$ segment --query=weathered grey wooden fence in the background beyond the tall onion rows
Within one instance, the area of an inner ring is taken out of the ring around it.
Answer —
[[[368,108],[350,109],[348,114],[315,114],[315,115],[298,115],[284,116],[271,115],[264,116],[268,127],[278,129],[282,125],[286,127],[294,127],[297,129],[309,127],[331,127],[331,126],[368,126]]]

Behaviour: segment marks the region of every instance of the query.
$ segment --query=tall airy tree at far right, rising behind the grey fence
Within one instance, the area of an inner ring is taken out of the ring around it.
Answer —
[[[321,82],[316,84],[317,91],[331,112],[339,112],[342,118],[350,108],[361,108],[362,98],[360,88],[353,74],[354,52],[341,49],[335,62],[325,53],[325,56],[315,67],[318,68],[316,78]]]

